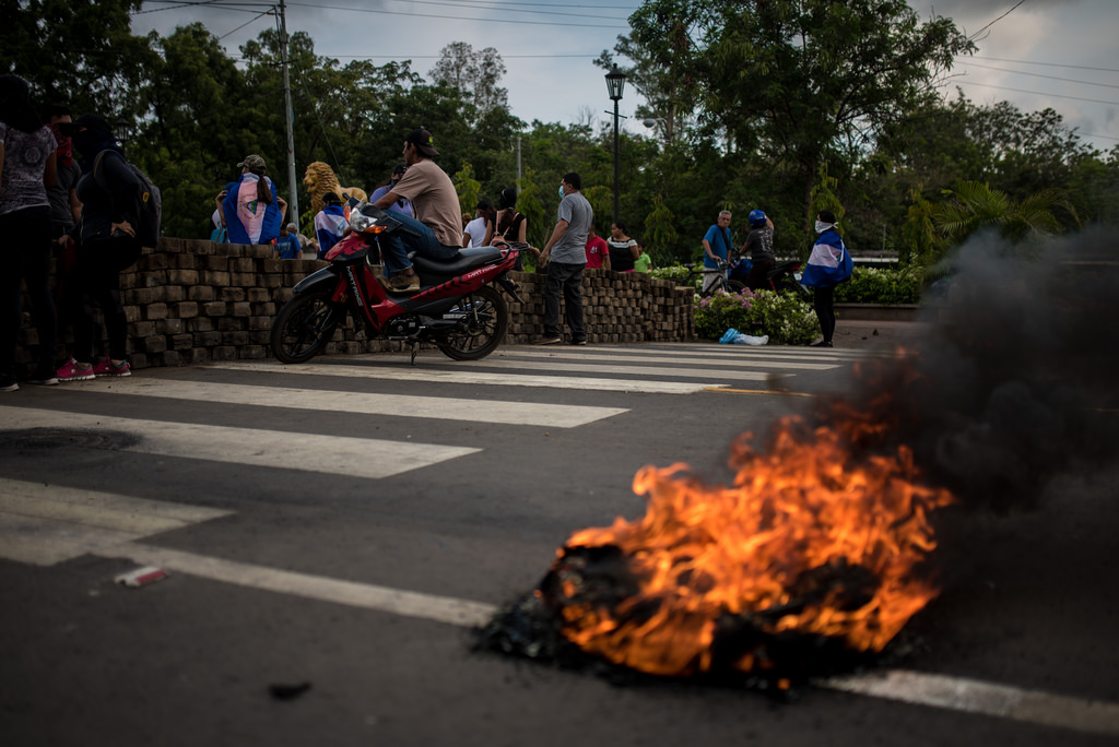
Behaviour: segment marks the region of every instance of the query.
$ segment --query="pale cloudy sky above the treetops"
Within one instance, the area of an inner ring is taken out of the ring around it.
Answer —
[[[231,56],[278,23],[271,0],[147,0],[135,34],[170,34],[201,21]],[[445,46],[493,47],[507,68],[502,85],[515,116],[532,123],[609,123],[613,104],[605,70],[593,60],[627,34],[640,0],[288,0],[289,34],[304,31],[319,56],[345,64],[412,59],[427,76]],[[962,88],[976,104],[1008,101],[1023,112],[1052,107],[1081,139],[1108,151],[1119,145],[1119,2],[1116,0],[910,0],[924,19],[951,18],[974,35],[979,51],[960,57],[947,92]],[[642,102],[627,88],[622,115]],[[651,134],[637,119],[624,131]]]

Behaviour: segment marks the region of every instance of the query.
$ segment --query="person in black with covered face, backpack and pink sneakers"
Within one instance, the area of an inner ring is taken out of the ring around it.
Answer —
[[[72,124],[59,126],[63,134],[70,133],[81,155],[82,178],[76,191],[82,200],[82,219],[59,239],[64,254],[73,252],[74,256],[73,266],[62,277],[62,305],[74,328],[74,348],[57,377],[59,381],[82,381],[97,376],[130,376],[120,274],[142,252],[133,221],[140,215],[143,185],[104,117],[83,114]],[[94,303],[101,306],[109,335],[109,358],[96,365]]]

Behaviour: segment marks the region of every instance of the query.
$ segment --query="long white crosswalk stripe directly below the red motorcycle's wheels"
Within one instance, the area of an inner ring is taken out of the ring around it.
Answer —
[[[727,384],[688,381],[633,381],[630,379],[598,379],[562,376],[518,376],[516,374],[488,374],[483,371],[436,371],[424,368],[388,368],[357,362],[356,359],[330,359],[332,362],[284,365],[265,361],[231,361],[208,363],[205,368],[226,371],[256,371],[261,374],[292,374],[303,376],[337,376],[391,381],[427,381],[432,384],[468,384],[500,387],[543,387],[548,389],[581,389],[585,391],[617,391],[636,394],[688,395],[708,387]],[[725,371],[722,378],[727,377]],[[81,386],[81,384],[68,385]]]

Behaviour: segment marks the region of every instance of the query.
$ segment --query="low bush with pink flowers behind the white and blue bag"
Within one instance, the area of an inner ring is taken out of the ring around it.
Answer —
[[[772,344],[808,344],[818,334],[811,306],[791,293],[749,290],[695,300],[696,334],[717,340],[727,329],[768,334]]]

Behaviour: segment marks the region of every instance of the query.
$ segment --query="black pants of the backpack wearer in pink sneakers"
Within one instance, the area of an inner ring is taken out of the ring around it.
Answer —
[[[63,277],[63,309],[74,327],[74,359],[93,362],[93,304],[101,306],[109,335],[109,357],[124,360],[128,354],[129,321],[121,305],[121,270],[140,256],[140,243],[120,236],[78,245],[75,263]]]

